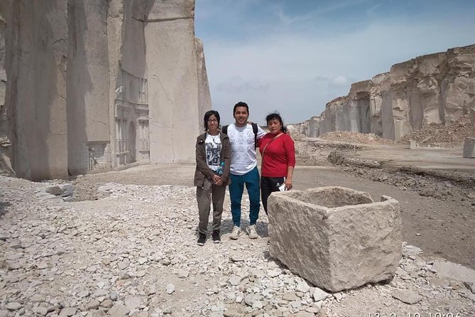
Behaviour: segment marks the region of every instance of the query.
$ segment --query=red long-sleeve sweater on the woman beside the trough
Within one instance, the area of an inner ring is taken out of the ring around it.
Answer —
[[[274,134],[266,134],[259,140],[259,151],[274,138]],[[293,139],[287,134],[272,141],[264,151],[262,158],[261,175],[266,177],[287,177],[288,166],[295,166],[295,146]]]

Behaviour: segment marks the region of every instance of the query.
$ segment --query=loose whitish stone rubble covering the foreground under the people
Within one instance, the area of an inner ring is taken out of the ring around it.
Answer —
[[[334,294],[269,257],[265,215],[258,240],[232,241],[225,210],[223,243],[197,247],[192,187],[108,183],[73,202],[48,183],[0,176],[0,187],[0,316],[475,314],[473,271],[438,276],[408,245],[388,283]]]

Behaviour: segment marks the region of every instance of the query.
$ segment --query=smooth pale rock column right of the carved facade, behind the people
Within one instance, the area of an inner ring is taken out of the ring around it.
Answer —
[[[200,132],[195,1],[148,2],[145,38],[151,163],[192,162]]]

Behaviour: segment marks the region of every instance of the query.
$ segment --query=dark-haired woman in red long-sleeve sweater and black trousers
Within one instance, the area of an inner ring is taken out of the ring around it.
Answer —
[[[261,198],[267,214],[267,199],[274,191],[292,188],[293,168],[295,167],[295,146],[293,139],[285,134],[280,114],[266,117],[269,133],[259,140],[261,151]]]

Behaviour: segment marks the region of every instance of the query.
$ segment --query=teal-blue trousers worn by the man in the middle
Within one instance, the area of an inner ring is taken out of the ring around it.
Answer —
[[[257,166],[252,171],[244,175],[230,175],[231,184],[229,184],[229,198],[231,199],[231,214],[233,223],[241,227],[241,199],[244,193],[244,184],[246,184],[247,193],[251,206],[249,207],[249,224],[255,225],[259,217],[259,171]]]

